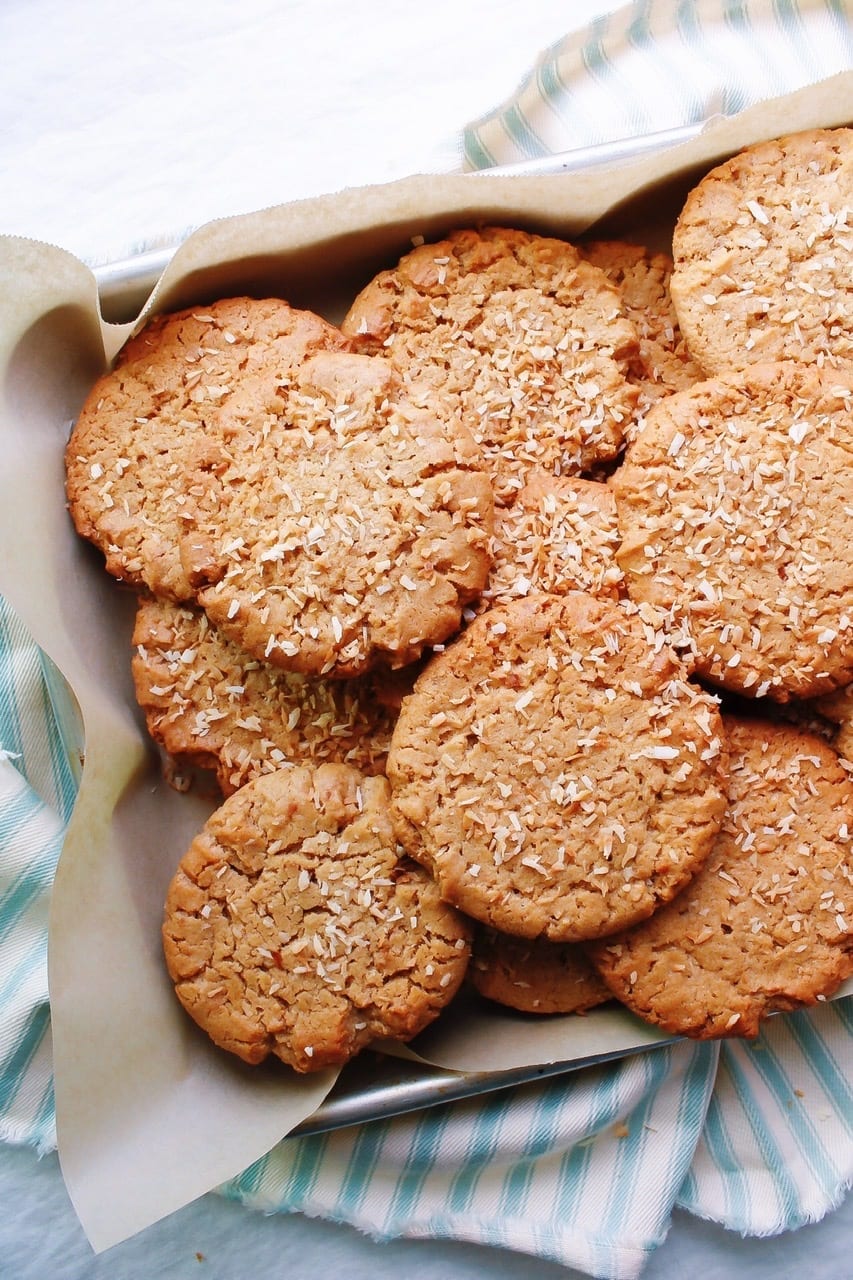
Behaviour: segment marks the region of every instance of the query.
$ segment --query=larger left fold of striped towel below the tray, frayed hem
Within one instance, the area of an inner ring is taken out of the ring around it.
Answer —
[[[717,1044],[680,1043],[482,1100],[295,1138],[220,1188],[375,1238],[447,1236],[637,1276],[665,1238]]]

